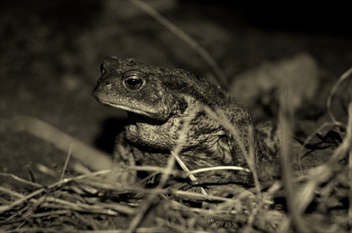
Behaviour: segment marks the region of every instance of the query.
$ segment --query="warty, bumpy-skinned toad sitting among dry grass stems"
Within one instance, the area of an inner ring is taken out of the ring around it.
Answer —
[[[133,58],[106,58],[101,71],[94,97],[103,105],[125,109],[130,119],[116,142],[118,161],[165,166],[189,112],[203,105],[220,109],[236,126],[242,143],[249,149],[248,131],[253,127],[249,110],[207,79],[183,69],[144,65]],[[257,133],[253,137],[258,164],[264,147]],[[191,121],[180,158],[190,170],[224,165],[247,167],[233,135],[203,111]],[[232,174],[218,175],[218,180],[227,176],[232,181],[244,181],[241,175]],[[214,178],[215,174],[211,176]]]

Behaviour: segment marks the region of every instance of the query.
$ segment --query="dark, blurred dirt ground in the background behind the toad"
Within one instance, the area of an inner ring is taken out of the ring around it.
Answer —
[[[198,41],[231,84],[265,62],[275,65],[308,54],[318,65],[319,80],[297,117],[310,117],[312,131],[326,116],[332,85],[352,65],[346,6],[291,6],[289,11],[287,6],[225,1],[148,3]],[[18,115],[34,116],[112,152],[125,112],[104,107],[92,97],[107,56],[182,67],[219,80],[193,48],[130,1],[1,1],[0,8],[1,173],[28,179],[31,163],[36,182],[49,184],[58,178],[43,175],[38,164],[55,169],[65,162],[67,152],[5,124]],[[256,121],[271,117],[258,113],[258,105],[250,106]],[[16,186],[3,178],[1,185]]]

